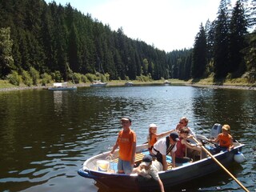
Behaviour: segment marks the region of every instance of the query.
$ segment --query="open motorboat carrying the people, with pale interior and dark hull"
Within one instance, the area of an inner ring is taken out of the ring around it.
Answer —
[[[204,136],[198,137],[199,139],[206,138]],[[207,174],[213,173],[217,170],[221,170],[221,166],[218,166],[217,162],[222,163],[223,166],[229,166],[230,162],[234,162],[234,156],[239,154],[242,150],[243,144],[235,141],[233,150],[221,151],[214,154],[214,144],[210,142],[203,142],[200,140],[204,147],[209,150],[202,150],[200,156],[194,159],[193,162],[186,162],[178,164],[173,168],[168,166],[166,171],[158,172],[159,177],[165,187],[176,186],[183,182],[188,182],[194,178],[200,178]],[[202,147],[204,149],[204,147]],[[142,162],[144,155],[149,154],[147,144],[139,145],[136,147],[135,164]],[[102,154],[98,154],[91,157],[83,163],[83,167],[78,170],[78,174],[84,178],[92,178],[96,182],[108,186],[110,188],[126,189],[126,190],[158,190],[158,182],[154,180],[145,181],[139,179],[138,174],[116,174],[118,165],[118,151],[114,152],[114,156],[108,159],[110,151]],[[241,153],[240,153],[241,154]],[[188,154],[190,155],[190,154]],[[171,163],[171,157],[166,156],[168,165]]]

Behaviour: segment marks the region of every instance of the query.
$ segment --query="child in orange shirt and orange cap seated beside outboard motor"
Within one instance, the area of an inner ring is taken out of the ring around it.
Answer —
[[[222,126],[222,134],[218,134],[217,138],[211,140],[212,142],[218,142],[219,151],[231,150],[234,148],[233,138],[229,133],[230,133],[230,126],[224,125]]]

